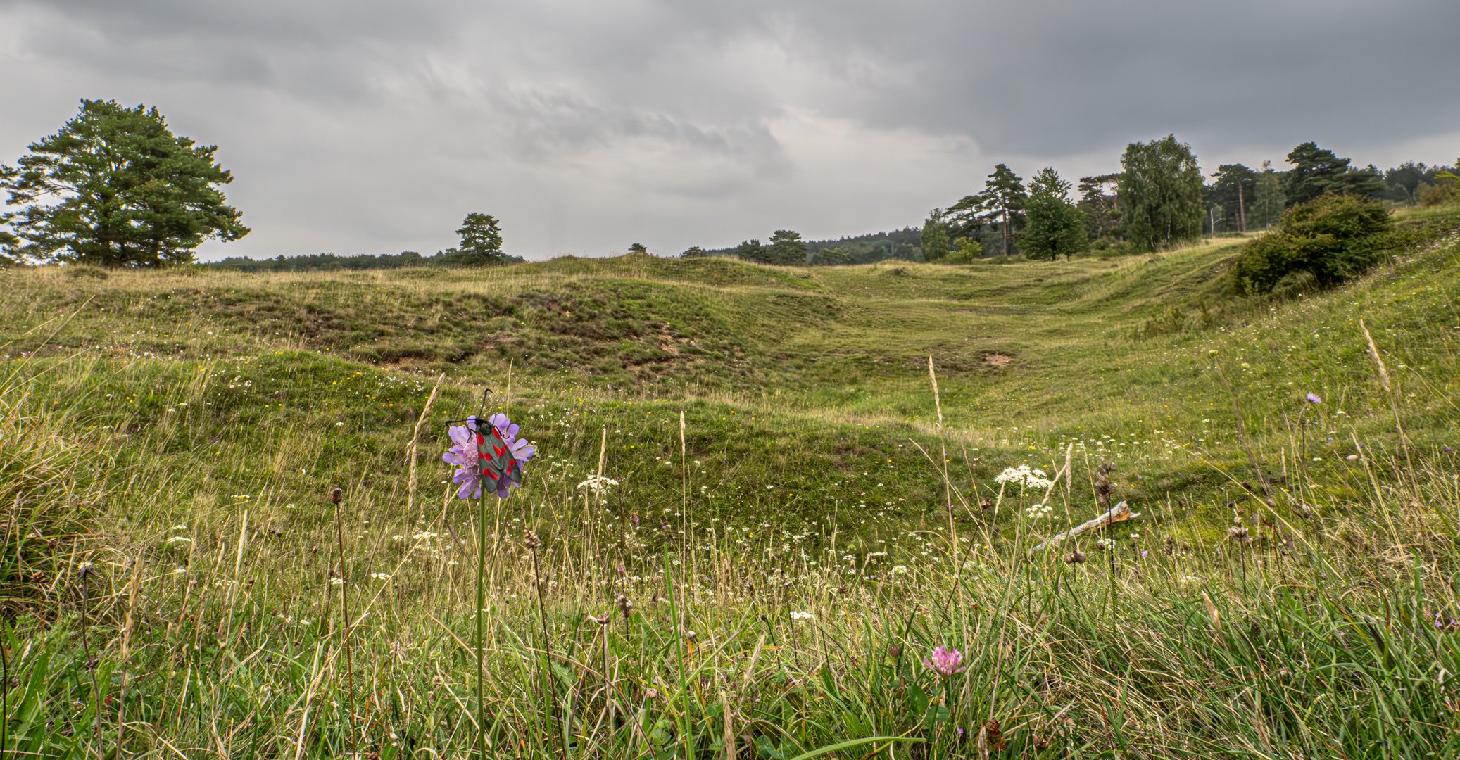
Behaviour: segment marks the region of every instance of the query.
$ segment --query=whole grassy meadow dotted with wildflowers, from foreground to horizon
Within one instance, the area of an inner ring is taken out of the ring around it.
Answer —
[[[1288,300],[1241,244],[0,270],[0,747],[1460,756],[1460,235]]]

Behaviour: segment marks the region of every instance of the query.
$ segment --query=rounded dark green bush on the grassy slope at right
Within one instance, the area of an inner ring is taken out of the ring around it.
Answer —
[[[1245,295],[1330,287],[1367,271],[1387,248],[1384,204],[1329,194],[1289,209],[1276,230],[1242,248],[1234,276]]]

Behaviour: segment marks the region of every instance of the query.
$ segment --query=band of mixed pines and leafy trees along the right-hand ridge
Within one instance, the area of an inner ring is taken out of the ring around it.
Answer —
[[[1089,248],[1159,251],[1203,235],[1272,229],[1285,212],[1330,193],[1393,204],[1460,201],[1460,160],[1451,168],[1353,168],[1352,159],[1307,141],[1286,162],[1283,171],[1267,160],[1260,171],[1223,163],[1207,181],[1191,146],[1171,134],[1130,143],[1120,172],[1079,178],[1077,198],[1054,168],[1025,185],[999,163],[980,193],[929,213],[921,254],[926,261],[959,261],[971,251],[1035,260]]]

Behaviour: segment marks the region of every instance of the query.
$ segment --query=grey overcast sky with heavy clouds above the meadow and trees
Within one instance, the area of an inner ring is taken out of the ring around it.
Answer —
[[[1457,0],[0,0],[0,162],[80,98],[218,144],[200,258],[527,258],[920,225],[994,163],[1460,158]]]

